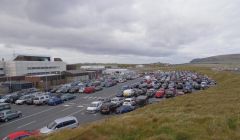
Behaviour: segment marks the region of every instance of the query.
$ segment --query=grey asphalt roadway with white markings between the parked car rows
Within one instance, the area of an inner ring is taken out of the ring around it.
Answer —
[[[22,111],[23,116],[6,123],[0,123],[0,138],[19,130],[40,129],[57,118],[69,115],[77,117],[80,125],[103,119],[107,116],[101,115],[100,113],[86,113],[88,105],[100,97],[114,97],[116,91],[123,85],[132,84],[139,80],[140,79],[135,79],[126,83],[120,83],[110,88],[104,88],[102,91],[93,94],[76,94],[77,98],[75,100],[65,102],[58,106],[12,105],[12,109]]]

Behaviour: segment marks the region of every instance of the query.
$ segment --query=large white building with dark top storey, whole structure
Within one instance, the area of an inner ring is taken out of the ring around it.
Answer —
[[[46,56],[18,55],[11,61],[5,62],[7,76],[40,75],[66,71],[66,63],[51,61]]]

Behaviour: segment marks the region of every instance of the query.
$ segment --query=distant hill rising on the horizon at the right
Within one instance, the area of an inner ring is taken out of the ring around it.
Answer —
[[[240,64],[240,54],[218,55],[206,58],[197,58],[190,61],[192,64]]]

